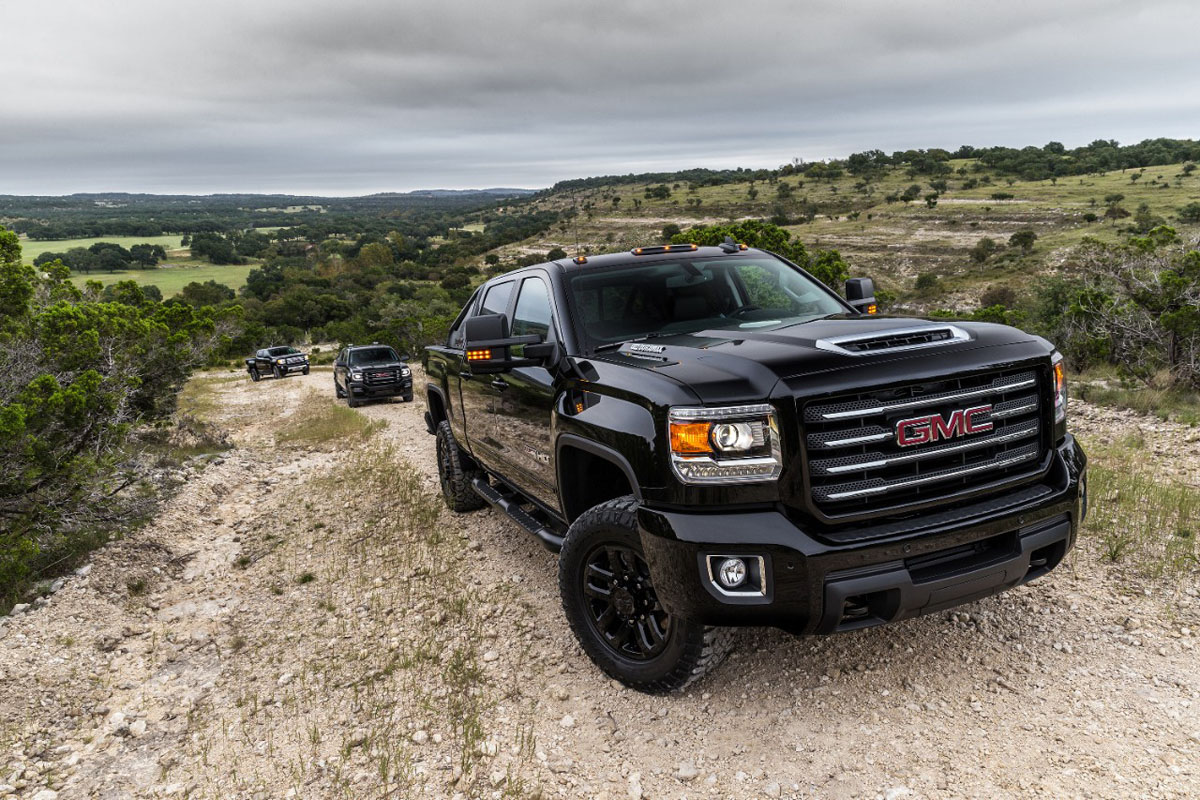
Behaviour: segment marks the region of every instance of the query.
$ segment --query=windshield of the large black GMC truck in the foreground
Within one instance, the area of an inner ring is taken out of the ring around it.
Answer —
[[[774,258],[623,266],[568,277],[587,344],[702,330],[770,330],[845,313],[812,278]]]

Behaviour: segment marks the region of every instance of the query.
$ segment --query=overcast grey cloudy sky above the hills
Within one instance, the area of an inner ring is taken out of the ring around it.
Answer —
[[[1196,138],[1198,29],[1190,0],[4,0],[0,194]]]

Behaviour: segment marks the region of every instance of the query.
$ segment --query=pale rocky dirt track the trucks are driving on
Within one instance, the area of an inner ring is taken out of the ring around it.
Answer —
[[[277,444],[330,383],[214,381],[235,447],[0,620],[0,798],[1200,794],[1194,571],[1134,579],[1085,537],[953,613],[739,631],[713,675],[644,697],[575,644],[552,554],[440,506],[420,399]],[[1194,431],[1074,414],[1200,481]]]

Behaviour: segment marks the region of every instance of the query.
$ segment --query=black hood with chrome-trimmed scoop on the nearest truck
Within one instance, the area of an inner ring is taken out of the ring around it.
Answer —
[[[923,341],[931,337],[946,338]],[[1037,338],[989,323],[847,314],[772,330],[715,329],[635,341],[594,359],[671,378],[702,403],[736,403],[769,397],[781,379],[902,359],[958,359],[967,350]]]

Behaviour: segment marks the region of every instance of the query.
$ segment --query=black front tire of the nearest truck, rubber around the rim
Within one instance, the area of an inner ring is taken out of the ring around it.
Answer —
[[[732,638],[727,630],[668,616],[662,651],[635,660],[613,649],[601,636],[593,621],[589,604],[593,601],[586,594],[588,560],[606,545],[644,558],[636,513],[637,500],[626,495],[580,515],[568,529],[558,557],[558,591],[566,620],[588,657],[630,688],[661,694],[682,690],[720,664],[730,652]]]

